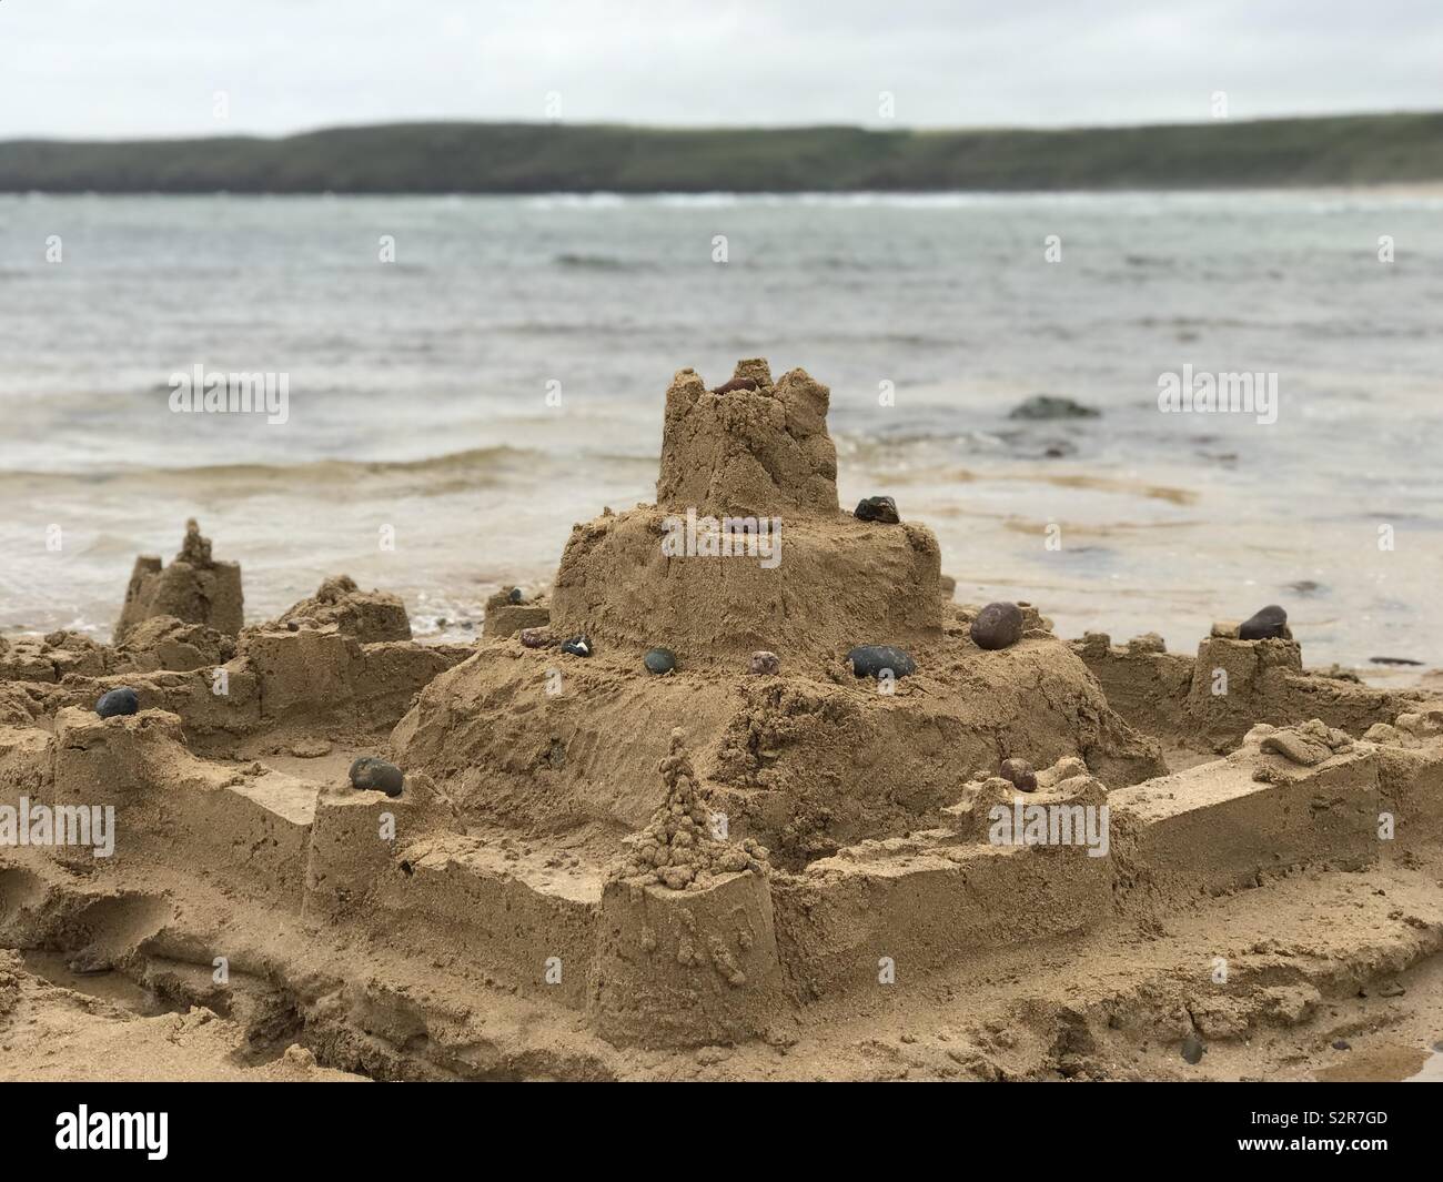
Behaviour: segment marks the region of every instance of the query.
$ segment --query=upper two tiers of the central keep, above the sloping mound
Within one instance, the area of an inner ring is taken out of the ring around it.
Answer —
[[[576,527],[554,586],[556,628],[665,644],[691,661],[939,636],[937,538],[840,509],[828,398],[802,369],[773,384],[760,359],[739,362],[716,390],[678,372],[657,504]]]

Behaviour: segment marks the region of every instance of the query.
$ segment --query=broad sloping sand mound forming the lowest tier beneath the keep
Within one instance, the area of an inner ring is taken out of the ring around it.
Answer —
[[[659,800],[645,769],[680,726],[736,831],[788,864],[916,828],[1004,753],[1081,755],[1114,784],[1165,769],[1065,644],[1036,636],[974,654],[880,694],[850,674],[834,680],[821,661],[795,675],[644,678],[639,654],[577,661],[509,641],[427,686],[391,743],[476,820],[525,833],[635,828]]]

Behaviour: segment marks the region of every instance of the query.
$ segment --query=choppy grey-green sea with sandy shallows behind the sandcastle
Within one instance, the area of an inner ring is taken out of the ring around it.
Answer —
[[[1436,189],[0,195],[0,632],[108,638],[193,517],[250,621],[348,573],[463,639],[654,499],[677,369],[753,356],[831,388],[843,505],[929,525],[960,600],[1443,661]],[[177,408],[198,367],[284,421]]]

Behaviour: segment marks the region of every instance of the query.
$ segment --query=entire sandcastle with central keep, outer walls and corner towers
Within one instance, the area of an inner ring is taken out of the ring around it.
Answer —
[[[401,1080],[785,1074],[899,1004],[965,1033],[944,1075],[1075,1074],[1123,1012],[1241,1039],[1281,1004],[1257,940],[1216,996],[1150,963],[1088,1009],[1069,966],[1257,892],[1290,915],[1300,875],[1421,901],[1319,954],[1309,989],[1443,947],[1410,877],[1443,843],[1443,701],[1228,628],[1185,657],[1066,642],[1019,605],[1020,636],[978,647],[932,533],[838,505],[827,407],[762,361],[716,390],[677,374],[657,502],[576,525],[550,595],[498,593],[527,612],[472,645],[410,639],[343,576],[250,628],[157,615],[179,600],[141,580],[118,647],[0,644],[0,810],[110,807],[115,839],[6,843],[0,811],[0,947],[206,1006],[255,1054]],[[864,645],[898,668],[859,675]],[[137,713],[100,719],[118,686]],[[354,789],[358,755],[404,792]]]

